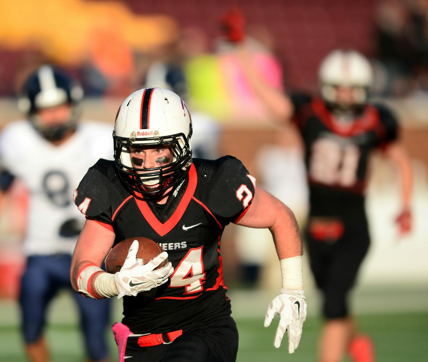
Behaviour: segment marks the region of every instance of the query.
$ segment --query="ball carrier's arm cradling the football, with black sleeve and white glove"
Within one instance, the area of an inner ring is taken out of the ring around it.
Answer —
[[[121,268],[115,274],[102,270],[101,264],[112,248],[112,210],[123,201],[105,174],[110,161],[100,160],[86,173],[74,193],[74,202],[86,216],[86,223],[74,249],[70,278],[73,289],[85,297],[101,299],[124,295],[136,296],[141,291],[156,288],[172,274],[171,263],[155,270],[167,257],[160,253],[147,264],[137,260],[138,242],[134,242]]]

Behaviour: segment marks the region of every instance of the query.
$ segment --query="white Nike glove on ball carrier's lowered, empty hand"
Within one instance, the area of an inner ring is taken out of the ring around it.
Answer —
[[[288,331],[288,353],[294,353],[299,346],[302,336],[303,322],[306,320],[306,294],[305,291],[281,289],[281,294],[270,302],[265,317],[265,327],[270,325],[275,314],[279,314],[279,326],[276,329],[273,345],[281,346],[285,329]]]

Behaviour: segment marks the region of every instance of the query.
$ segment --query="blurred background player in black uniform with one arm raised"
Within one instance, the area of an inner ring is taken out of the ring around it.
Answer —
[[[398,140],[395,116],[385,106],[369,104],[372,69],[352,50],[334,50],[319,69],[320,95],[289,98],[266,86],[253,71],[248,52],[238,49],[248,80],[279,122],[292,119],[305,145],[310,212],[306,240],[312,272],[324,296],[325,323],[321,362],[374,361],[370,339],[356,335],[347,295],[369,248],[364,210],[367,163],[380,149],[398,166],[402,206],[399,233],[411,229],[410,158]]]

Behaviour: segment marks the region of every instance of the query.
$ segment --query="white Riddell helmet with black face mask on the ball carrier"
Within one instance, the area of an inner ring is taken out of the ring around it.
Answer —
[[[144,88],[132,93],[119,107],[113,131],[114,159],[122,180],[142,194],[162,193],[177,185],[192,163],[191,136],[189,110],[174,92]],[[134,168],[129,147],[138,145],[169,145],[173,161],[152,169]]]

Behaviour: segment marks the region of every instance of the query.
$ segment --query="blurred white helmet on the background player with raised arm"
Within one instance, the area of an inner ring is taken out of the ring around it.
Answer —
[[[354,50],[333,50],[321,62],[318,71],[321,97],[327,105],[346,107],[337,99],[337,88],[352,89],[354,105],[366,104],[373,82],[369,61]]]

